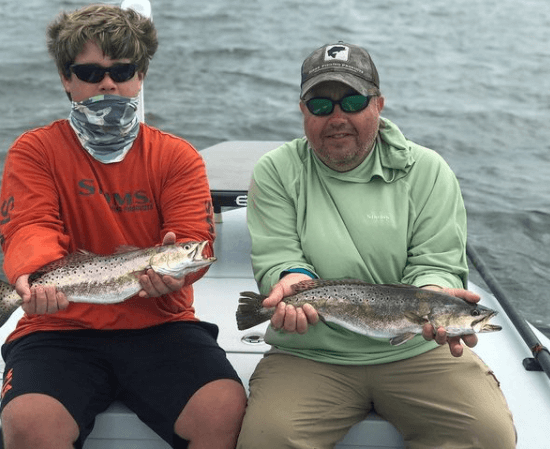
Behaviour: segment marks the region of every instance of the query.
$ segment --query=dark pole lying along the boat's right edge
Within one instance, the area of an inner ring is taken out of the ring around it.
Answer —
[[[495,277],[490,273],[476,249],[469,243],[466,244],[466,254],[533,354],[534,359],[526,358],[523,360],[525,369],[527,371],[544,371],[548,378],[550,378],[550,351],[548,348],[542,345],[533,329],[531,329],[531,326],[517,311]]]

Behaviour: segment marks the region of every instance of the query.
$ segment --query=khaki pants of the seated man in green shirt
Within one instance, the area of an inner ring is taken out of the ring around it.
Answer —
[[[455,358],[442,346],[369,366],[268,355],[250,380],[237,448],[332,449],[373,408],[411,449],[516,446],[512,415],[492,372],[469,349]]]

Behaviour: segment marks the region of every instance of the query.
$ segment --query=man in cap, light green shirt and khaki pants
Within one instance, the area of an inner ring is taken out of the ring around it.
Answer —
[[[272,350],[250,381],[238,447],[332,448],[375,409],[411,448],[512,448],[498,382],[443,328],[391,346],[319,322],[283,298],[311,278],[357,278],[467,290],[466,211],[458,181],[434,151],[380,116],[370,55],[339,42],[302,66],[306,136],[266,154],[249,190],[254,274],[276,307]],[[444,346],[446,343],[449,349]],[[441,346],[440,346],[441,345]]]

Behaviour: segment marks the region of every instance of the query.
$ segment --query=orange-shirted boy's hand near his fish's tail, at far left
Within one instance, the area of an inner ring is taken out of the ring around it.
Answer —
[[[54,285],[29,286],[29,275],[24,274],[15,281],[15,291],[23,304],[21,308],[27,315],[43,315],[65,310],[69,306],[67,297],[58,292]]]

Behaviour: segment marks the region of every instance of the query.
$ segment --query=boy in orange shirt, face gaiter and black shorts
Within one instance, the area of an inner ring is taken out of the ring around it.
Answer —
[[[235,445],[246,396],[217,327],[194,315],[191,284],[205,270],[182,280],[149,270],[139,294],[114,305],[69,303],[28,282],[79,249],[207,240],[212,253],[202,158],[136,117],[157,46],[151,20],[115,6],[62,13],[48,29],[72,109],[17,139],[5,165],[4,269],[26,313],[2,348],[7,448],[81,447],[115,398],[173,447]]]

